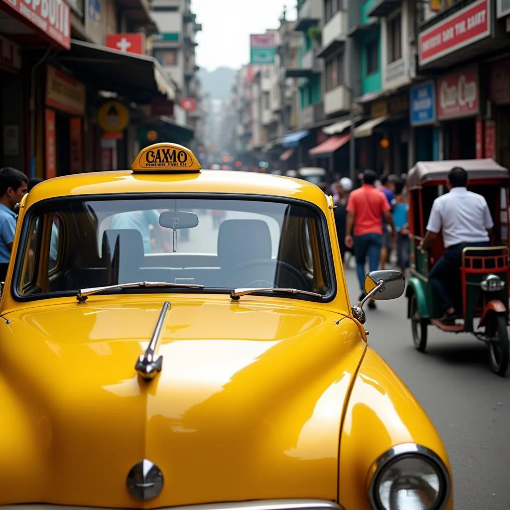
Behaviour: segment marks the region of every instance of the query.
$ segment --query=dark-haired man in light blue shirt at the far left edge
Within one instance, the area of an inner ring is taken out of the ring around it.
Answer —
[[[27,193],[28,178],[15,168],[0,170],[0,281],[4,282],[11,259],[17,215],[14,206]]]

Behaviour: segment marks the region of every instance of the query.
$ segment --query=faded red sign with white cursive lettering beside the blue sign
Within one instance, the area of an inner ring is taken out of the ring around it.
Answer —
[[[480,109],[478,67],[439,79],[436,94],[439,120],[476,115]]]

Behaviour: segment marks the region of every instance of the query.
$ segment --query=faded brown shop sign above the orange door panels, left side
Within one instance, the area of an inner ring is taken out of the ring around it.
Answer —
[[[85,85],[55,67],[46,69],[46,105],[73,115],[85,114]]]

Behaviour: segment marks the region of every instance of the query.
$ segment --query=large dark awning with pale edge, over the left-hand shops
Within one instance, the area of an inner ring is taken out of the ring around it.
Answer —
[[[87,85],[116,92],[136,103],[149,104],[158,96],[175,99],[174,83],[152,57],[71,39],[70,51],[57,59]]]

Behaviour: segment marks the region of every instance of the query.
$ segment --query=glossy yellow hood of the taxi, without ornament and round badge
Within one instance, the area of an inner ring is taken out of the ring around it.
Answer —
[[[0,504],[335,500],[342,410],[365,343],[351,319],[296,302],[172,298],[150,382],[135,363],[163,297],[8,313]],[[142,502],[126,476],[144,459],[164,486]]]

